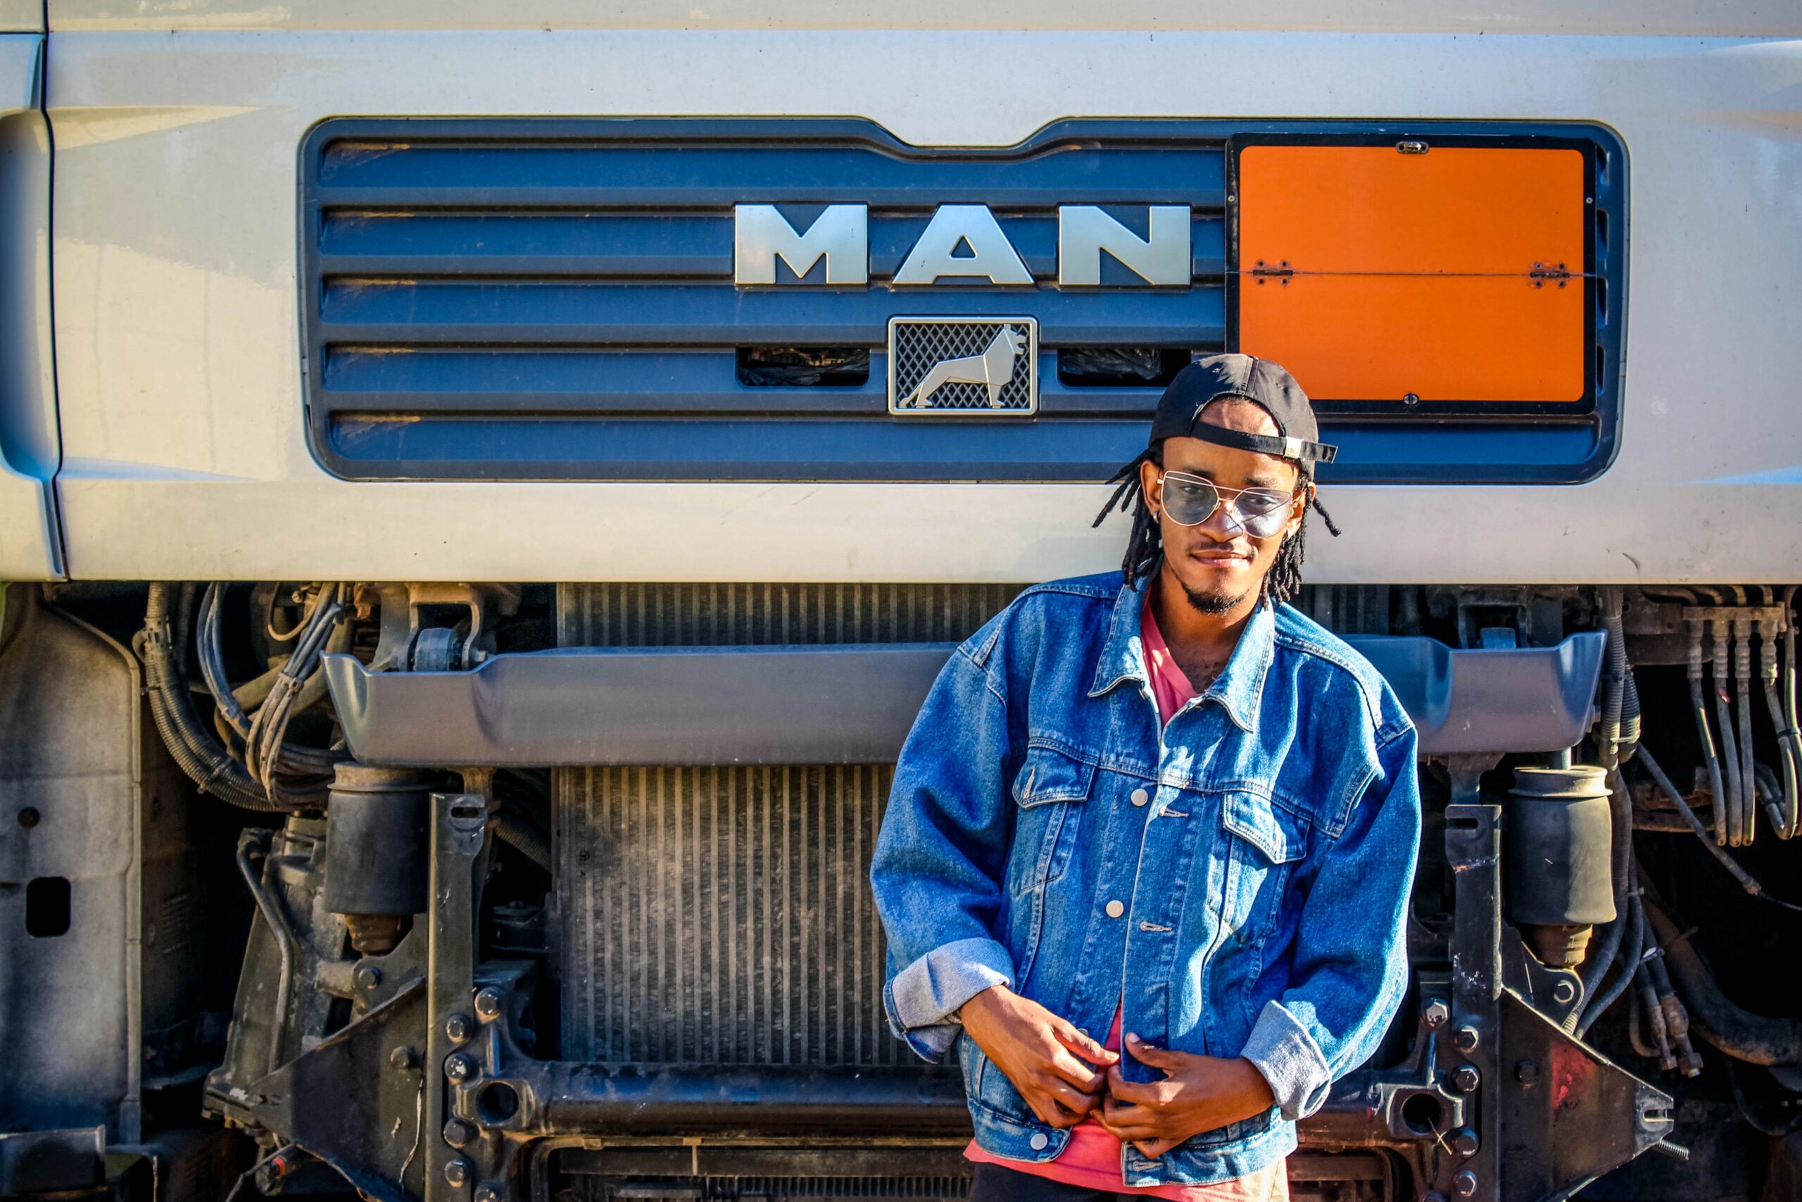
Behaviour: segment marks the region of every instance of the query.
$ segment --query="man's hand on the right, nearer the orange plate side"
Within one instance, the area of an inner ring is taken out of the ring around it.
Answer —
[[[1166,1052],[1137,1034],[1126,1036],[1133,1058],[1164,1070],[1162,1081],[1139,1085],[1108,1069],[1108,1099],[1097,1115],[1115,1139],[1157,1159],[1191,1135],[1263,1114],[1276,1097],[1243,1056],[1220,1060]]]

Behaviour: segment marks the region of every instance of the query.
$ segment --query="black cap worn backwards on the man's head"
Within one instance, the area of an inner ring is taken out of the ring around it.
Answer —
[[[1279,438],[1247,434],[1202,420],[1202,409],[1220,396],[1243,396],[1276,420]],[[1252,355],[1207,355],[1177,373],[1157,402],[1151,443],[1164,438],[1200,438],[1222,447],[1274,454],[1297,463],[1332,463],[1339,447],[1319,442],[1314,405],[1281,364]]]

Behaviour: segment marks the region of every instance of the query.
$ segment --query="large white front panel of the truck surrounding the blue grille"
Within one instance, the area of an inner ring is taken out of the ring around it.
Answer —
[[[332,115],[485,114],[860,115],[944,146],[1072,115],[1604,121],[1633,168],[1616,463],[1573,488],[1333,490],[1348,533],[1315,539],[1308,575],[1802,575],[1795,7],[600,7],[52,0],[72,575],[1027,580],[1115,562],[1124,528],[1088,530],[1099,485],[328,476],[303,425],[299,141]]]

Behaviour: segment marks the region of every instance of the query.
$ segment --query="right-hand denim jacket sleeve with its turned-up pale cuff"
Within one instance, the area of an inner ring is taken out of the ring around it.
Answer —
[[[1326,851],[1301,908],[1290,984],[1242,1052],[1287,1119],[1321,1108],[1364,1063],[1407,988],[1407,899],[1420,847],[1415,728],[1377,750],[1377,771]]]

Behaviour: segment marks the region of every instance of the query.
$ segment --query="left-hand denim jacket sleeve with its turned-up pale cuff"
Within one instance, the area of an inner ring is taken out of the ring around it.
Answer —
[[[944,1060],[955,1042],[964,1002],[1015,982],[1013,955],[995,937],[1007,869],[1007,759],[1002,685],[966,643],[939,672],[901,748],[870,865],[888,933],[888,1025],[930,1061]]]

